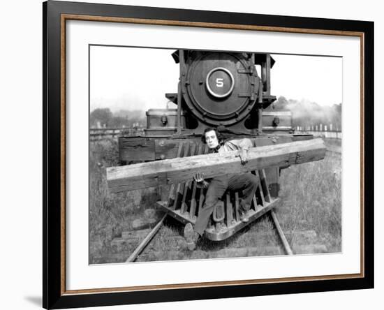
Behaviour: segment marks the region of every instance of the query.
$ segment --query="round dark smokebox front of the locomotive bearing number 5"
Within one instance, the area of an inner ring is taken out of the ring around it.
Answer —
[[[212,52],[193,58],[182,91],[195,117],[212,126],[230,126],[249,115],[260,79],[248,57]]]

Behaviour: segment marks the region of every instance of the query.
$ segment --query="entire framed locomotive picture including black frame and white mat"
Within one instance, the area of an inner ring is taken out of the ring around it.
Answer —
[[[374,287],[374,23],[43,3],[43,307]]]

